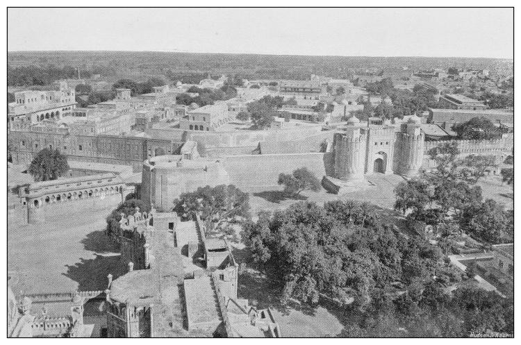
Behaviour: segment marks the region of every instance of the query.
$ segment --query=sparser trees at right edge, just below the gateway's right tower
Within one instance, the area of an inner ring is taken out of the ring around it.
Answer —
[[[483,201],[479,178],[493,157],[469,155],[458,159],[455,143],[429,151],[436,169],[411,178],[395,188],[395,209],[408,219],[436,224],[442,229],[440,245],[447,249],[454,235],[462,231],[491,244],[511,242],[513,226],[504,206]]]

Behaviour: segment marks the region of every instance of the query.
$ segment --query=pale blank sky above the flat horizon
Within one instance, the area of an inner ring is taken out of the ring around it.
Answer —
[[[513,57],[511,8],[10,8],[8,51]]]

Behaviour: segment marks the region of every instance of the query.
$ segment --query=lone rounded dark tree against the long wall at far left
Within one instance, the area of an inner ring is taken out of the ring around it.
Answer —
[[[58,149],[42,149],[27,169],[35,181],[56,180],[69,171],[67,157]]]

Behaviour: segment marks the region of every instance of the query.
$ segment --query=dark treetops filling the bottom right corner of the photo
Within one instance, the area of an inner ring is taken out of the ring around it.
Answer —
[[[395,298],[375,290],[364,313],[344,314],[341,337],[468,337],[471,333],[513,335],[513,297],[464,283],[452,294],[436,282],[411,287]]]

